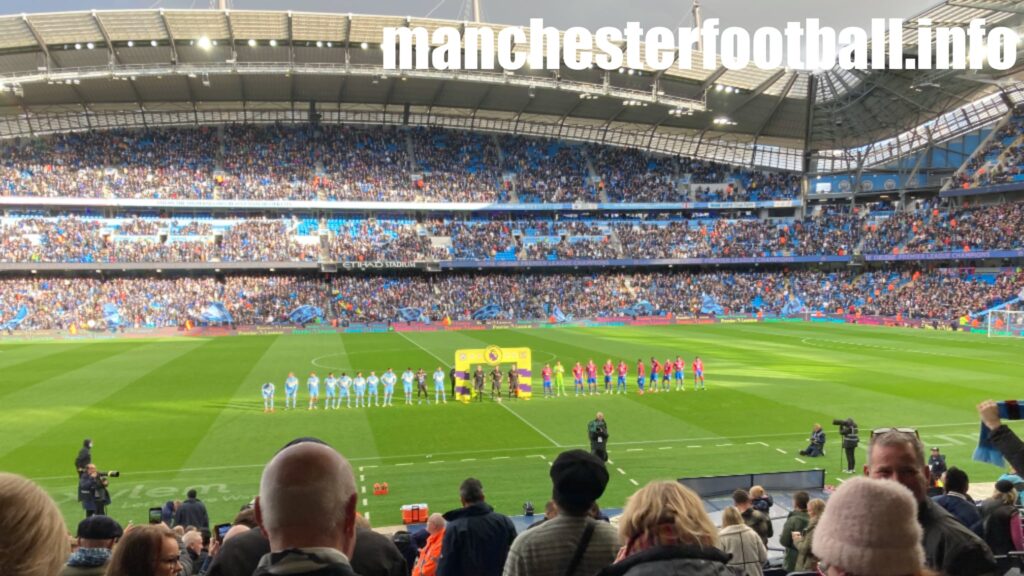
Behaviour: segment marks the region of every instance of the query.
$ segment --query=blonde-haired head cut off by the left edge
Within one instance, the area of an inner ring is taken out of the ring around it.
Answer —
[[[68,528],[42,488],[0,472],[0,574],[52,576],[68,560]]]

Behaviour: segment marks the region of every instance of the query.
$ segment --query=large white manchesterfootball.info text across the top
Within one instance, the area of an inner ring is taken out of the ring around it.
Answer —
[[[870,32],[858,27],[836,30],[818,18],[786,23],[783,30],[759,28],[751,34],[738,27],[720,29],[718,18],[700,28],[653,27],[629,22],[624,29],[603,27],[591,32],[571,27],[561,33],[530,18],[527,28],[487,26],[385,27],[381,49],[385,70],[518,71],[668,70],[673,66],[705,70],[721,66],[743,70],[1009,70],[1017,59],[1018,34],[1006,27],[986,29],[984,18],[967,28],[935,27],[929,18],[914,20],[918,54],[904,58],[902,18],[871,18]],[[528,32],[528,34],[527,34]],[[694,63],[697,41],[703,43]],[[517,49],[525,46],[526,49]],[[678,56],[678,57],[677,57]]]

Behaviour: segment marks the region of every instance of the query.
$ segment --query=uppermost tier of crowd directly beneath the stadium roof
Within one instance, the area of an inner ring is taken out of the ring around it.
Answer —
[[[694,183],[733,181],[727,193]],[[799,194],[795,174],[551,138],[440,128],[230,125],[0,145],[0,194],[377,202],[676,202]]]

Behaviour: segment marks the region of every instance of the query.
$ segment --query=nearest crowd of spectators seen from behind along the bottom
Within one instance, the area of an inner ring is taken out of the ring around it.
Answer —
[[[1022,469],[1024,443],[1004,423],[1004,409],[978,405],[983,438],[1000,463]],[[125,527],[106,515],[111,493],[86,440],[76,458],[86,518],[73,537],[41,487],[0,474],[0,567],[7,576],[559,576],[565,566],[569,574],[598,576],[763,576],[768,569],[982,576],[1013,573],[1010,554],[1024,547],[1017,508],[1024,481],[1002,475],[977,502],[967,474],[937,448],[926,457],[920,434],[907,427],[873,430],[863,477],[822,494],[827,500],[736,489],[716,525],[702,495],[683,483],[634,482],[612,524],[599,505],[611,478],[608,428],[598,412],[588,424],[591,450],[566,450],[550,462],[551,500],[529,526],[520,529],[496,510],[471,477],[459,486],[460,506],[391,538],[358,513],[352,465],[317,439],[280,449],[262,470],[258,497],[229,523],[213,525],[191,489],[157,508],[151,525]],[[853,449],[847,453],[852,466]],[[783,515],[776,544],[775,521]],[[781,547],[780,567],[768,562],[769,544]]]

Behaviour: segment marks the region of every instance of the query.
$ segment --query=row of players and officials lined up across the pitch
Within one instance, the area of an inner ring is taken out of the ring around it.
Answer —
[[[700,357],[694,358],[691,368],[693,370],[693,388],[706,390],[703,361],[700,360]],[[605,362],[601,371],[604,374],[603,394],[626,394],[626,380],[629,374],[629,367],[625,361],[620,361],[618,365],[615,366],[609,358],[607,362]],[[685,371],[686,361],[684,361],[682,357],[676,357],[675,360],[668,359],[665,363],[660,363],[657,359],[652,357],[650,359],[650,376],[648,383],[647,365],[644,363],[643,359],[638,359],[636,367],[637,393],[643,395],[645,390],[648,393],[670,392],[673,388],[673,383],[675,384],[676,390],[685,390]],[[571,368],[571,373],[575,396],[579,397],[588,394],[601,394],[597,384],[598,367],[594,364],[593,360],[588,361],[586,365],[582,365],[580,362],[577,362]],[[617,377],[615,380],[615,386],[614,389],[612,389],[612,377],[615,377],[616,374]],[[495,366],[489,372],[492,386],[490,398],[501,401],[501,384],[502,380],[506,377],[508,381],[509,398],[518,398],[521,392],[531,392],[531,386],[528,383],[520,382],[521,375],[522,371],[514,366],[508,370],[507,374],[502,372],[501,366]],[[456,383],[459,379],[460,373],[455,368],[452,368],[449,371],[447,376],[451,379],[452,396],[454,399],[468,401],[475,397],[478,401],[482,402],[483,385],[487,377],[487,373],[483,371],[483,366],[477,365],[476,370],[472,372],[472,375],[468,373],[463,375],[466,380],[472,379],[473,382],[472,389],[468,387],[463,388],[465,394],[457,394]],[[434,404],[447,404],[444,377],[444,370],[438,366],[432,374],[434,381]],[[554,368],[552,368],[550,364],[545,364],[544,368],[541,370],[541,378],[544,382],[545,398],[568,396],[568,393],[565,389],[565,367],[562,366],[560,361],[555,363]],[[422,404],[424,401],[426,401],[427,404],[430,403],[430,395],[427,392],[426,379],[427,371],[423,368],[420,368],[417,371],[413,371],[412,368],[408,368],[401,373],[402,393],[407,405],[414,403],[414,382],[417,387],[415,399],[416,403]],[[343,402],[346,407],[351,408],[353,398],[355,399],[356,408],[369,407],[371,406],[371,403],[373,406],[393,406],[394,387],[397,381],[398,376],[394,373],[394,370],[390,368],[388,368],[387,371],[381,376],[378,376],[376,371],[371,371],[369,376],[364,376],[362,372],[356,372],[354,378],[349,376],[346,372],[342,372],[340,377],[335,376],[334,372],[331,372],[324,380],[326,388],[325,392],[327,393],[324,399],[324,409],[337,410],[341,408]],[[380,387],[382,384],[384,386],[383,403],[380,395]],[[309,377],[306,378],[306,389],[309,395],[308,409],[316,410],[319,406],[321,379],[315,372],[310,372]],[[274,411],[275,392],[276,386],[273,382],[264,382],[261,386],[261,393],[263,396],[263,412]],[[285,379],[286,410],[298,408],[298,396],[299,379],[295,376],[294,372],[289,372],[288,377]]]

